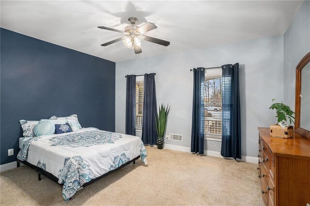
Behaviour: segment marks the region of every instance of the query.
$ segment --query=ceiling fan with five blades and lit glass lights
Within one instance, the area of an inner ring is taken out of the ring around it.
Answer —
[[[136,26],[135,24],[138,21],[138,18],[136,17],[129,17],[128,21],[130,21],[129,26],[125,27],[124,31],[122,30],[118,30],[118,29],[112,29],[109,27],[98,27],[99,29],[106,29],[106,30],[110,30],[110,31],[116,31],[122,34],[125,34],[124,37],[120,37],[118,39],[114,39],[110,42],[107,42],[105,44],[101,44],[102,46],[108,46],[110,44],[119,42],[119,41],[123,41],[123,43],[125,44],[126,47],[130,48],[130,49],[134,49],[136,54],[140,54],[142,52],[141,50],[141,40],[145,40],[148,42],[152,42],[155,44],[160,44],[160,45],[164,45],[164,46],[168,46],[170,44],[170,42],[165,41],[165,40],[161,40],[161,39],[156,39],[154,37],[150,37],[150,36],[146,36],[144,35],[144,33],[156,29],[156,25],[153,23],[146,23],[144,25],[142,25],[141,27]]]

